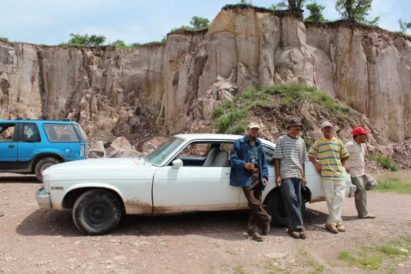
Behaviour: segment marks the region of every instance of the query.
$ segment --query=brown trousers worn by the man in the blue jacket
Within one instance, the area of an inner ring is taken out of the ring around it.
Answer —
[[[254,169],[254,173],[251,176],[251,186],[243,186],[242,191],[247,198],[250,208],[248,233],[253,234],[258,232],[258,224],[266,225],[270,221],[270,216],[264,210],[261,203],[262,188],[260,184],[260,171],[258,169]]]

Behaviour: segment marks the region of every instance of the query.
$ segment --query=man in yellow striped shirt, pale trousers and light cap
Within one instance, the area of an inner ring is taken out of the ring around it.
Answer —
[[[324,122],[321,125],[321,132],[323,132],[323,138],[314,142],[308,151],[308,159],[314,164],[323,180],[325,200],[329,211],[325,227],[334,233],[345,232],[346,228],[341,219],[341,207],[345,197],[343,167],[349,173],[350,167],[345,163],[349,158],[349,153],[343,141],[332,135],[331,123]],[[317,155],[320,162],[315,160]]]

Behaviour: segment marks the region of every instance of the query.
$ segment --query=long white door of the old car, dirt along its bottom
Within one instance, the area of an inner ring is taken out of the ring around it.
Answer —
[[[158,169],[153,179],[154,213],[235,210],[241,188],[229,185],[231,168],[227,150],[231,149],[232,144],[230,142],[229,148],[221,151],[221,155],[227,157],[225,166],[213,164],[212,161],[211,164],[198,161],[201,166],[174,169],[171,161],[171,165]]]

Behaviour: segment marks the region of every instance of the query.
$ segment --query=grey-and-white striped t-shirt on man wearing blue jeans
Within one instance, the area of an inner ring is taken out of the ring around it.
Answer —
[[[303,163],[308,161],[306,143],[301,138],[292,138],[288,134],[279,136],[273,158],[279,161],[279,177],[303,177]]]

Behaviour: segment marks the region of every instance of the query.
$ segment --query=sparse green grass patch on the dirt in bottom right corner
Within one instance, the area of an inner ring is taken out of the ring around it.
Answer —
[[[338,259],[351,266],[359,266],[366,270],[382,270],[383,273],[395,271],[395,264],[406,261],[408,253],[401,251],[401,247],[410,248],[411,237],[391,240],[386,245],[362,247],[358,251],[340,251]]]

